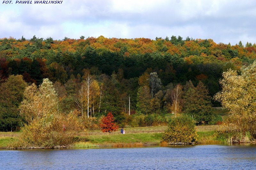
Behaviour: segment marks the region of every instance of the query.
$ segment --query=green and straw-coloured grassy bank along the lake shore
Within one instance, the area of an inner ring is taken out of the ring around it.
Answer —
[[[219,125],[197,126],[198,142],[220,144],[214,136],[214,130],[218,127]],[[119,130],[111,134],[104,134],[100,130],[90,130],[87,133],[89,135],[84,132],[80,133],[78,137],[80,141],[74,144],[74,148],[159,145],[165,129],[167,126],[125,128],[125,134],[120,134]],[[5,148],[9,143],[17,140],[19,135],[20,132],[0,132],[0,148]]]

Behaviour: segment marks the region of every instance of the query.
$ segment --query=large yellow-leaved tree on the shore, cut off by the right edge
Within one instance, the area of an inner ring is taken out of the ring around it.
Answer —
[[[242,67],[240,72],[231,69],[223,72],[222,91],[214,96],[228,109],[222,132],[226,132],[229,143],[256,138],[256,62]]]

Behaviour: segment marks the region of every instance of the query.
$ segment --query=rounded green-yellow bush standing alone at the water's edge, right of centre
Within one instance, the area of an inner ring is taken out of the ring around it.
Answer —
[[[168,144],[194,144],[197,140],[196,126],[187,116],[173,118],[162,136]]]

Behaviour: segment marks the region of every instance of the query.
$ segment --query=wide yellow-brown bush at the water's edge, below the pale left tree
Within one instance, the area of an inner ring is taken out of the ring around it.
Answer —
[[[83,126],[73,112],[49,115],[25,125],[19,141],[11,144],[10,148],[66,148],[75,142],[80,129]]]

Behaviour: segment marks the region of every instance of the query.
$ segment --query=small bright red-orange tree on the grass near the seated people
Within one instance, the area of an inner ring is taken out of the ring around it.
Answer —
[[[114,123],[114,116],[111,112],[108,113],[107,116],[104,116],[101,119],[100,128],[102,132],[111,133],[116,131],[119,127]]]

